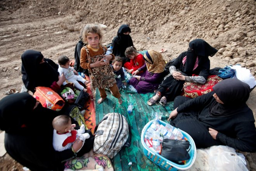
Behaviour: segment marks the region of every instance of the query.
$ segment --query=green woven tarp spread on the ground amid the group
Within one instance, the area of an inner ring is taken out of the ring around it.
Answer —
[[[173,110],[173,102],[168,102],[165,107],[160,104],[153,106],[147,105],[150,97],[154,93],[138,94],[132,91],[121,90],[123,104],[118,104],[118,99],[107,92],[107,98],[102,104],[96,103],[96,124],[107,113],[117,112],[121,113],[127,118],[131,126],[131,145],[125,147],[112,159],[112,164],[115,171],[161,171],[164,169],[159,168],[152,161],[147,159],[143,152],[143,146],[140,141],[140,136],[144,126],[152,119],[154,113],[162,113],[162,120],[167,123],[170,112]],[[96,102],[100,98],[99,90],[96,91]],[[133,103],[133,111],[128,114],[127,107],[129,103]],[[153,115],[152,115],[153,113]],[[128,165],[131,162],[131,165]]]

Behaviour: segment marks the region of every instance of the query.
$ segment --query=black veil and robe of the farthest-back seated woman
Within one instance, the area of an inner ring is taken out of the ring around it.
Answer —
[[[111,46],[113,47],[113,54],[115,56],[120,56],[123,63],[127,62],[129,59],[125,58],[125,50],[129,46],[133,46],[133,41],[130,34],[123,34],[124,32],[131,32],[130,27],[127,24],[123,24],[119,27],[117,36],[112,40]]]

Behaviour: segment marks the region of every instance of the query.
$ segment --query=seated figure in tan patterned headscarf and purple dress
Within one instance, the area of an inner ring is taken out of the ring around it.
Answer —
[[[133,72],[129,84],[132,85],[138,93],[154,92],[159,86],[164,76],[165,61],[161,53],[149,50],[143,56],[145,64]],[[144,71],[142,74],[138,74]]]

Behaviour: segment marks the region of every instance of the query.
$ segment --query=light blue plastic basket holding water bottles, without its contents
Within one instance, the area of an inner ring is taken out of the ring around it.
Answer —
[[[144,149],[143,149],[144,155],[149,160],[151,160],[152,162],[157,164],[159,167],[164,168],[168,171],[177,171],[178,169],[180,169],[180,170],[189,169],[194,164],[195,157],[196,157],[196,147],[195,147],[195,142],[192,139],[192,137],[190,137],[190,135],[188,133],[180,130],[182,132],[182,134],[184,135],[184,137],[186,137],[189,140],[189,143],[191,144],[191,148],[189,150],[190,159],[186,161],[186,164],[176,164],[175,162],[172,162],[172,161],[164,158],[160,154],[157,154],[156,152],[150,150],[149,147],[147,147],[147,145],[145,144],[144,137],[145,137],[146,130],[150,127],[150,125],[152,124],[153,121],[154,120],[149,121],[144,126],[142,133],[141,133],[140,140],[144,147]],[[159,120],[159,124],[164,125],[164,126],[166,125],[166,123],[161,120]]]

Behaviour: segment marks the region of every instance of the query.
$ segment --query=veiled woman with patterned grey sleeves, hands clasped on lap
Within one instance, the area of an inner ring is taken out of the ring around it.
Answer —
[[[170,73],[164,77],[156,95],[147,104],[151,106],[161,98],[160,104],[165,106],[166,101],[173,101],[181,94],[185,81],[204,84],[210,69],[208,56],[213,56],[217,51],[202,39],[191,41],[188,50],[182,52],[171,64]]]

